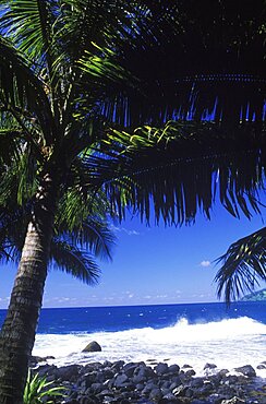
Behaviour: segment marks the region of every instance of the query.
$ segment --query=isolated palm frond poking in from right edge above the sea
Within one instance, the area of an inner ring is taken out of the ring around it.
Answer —
[[[238,299],[246,292],[253,292],[259,281],[266,281],[266,227],[233,242],[218,263],[218,297],[226,301]]]

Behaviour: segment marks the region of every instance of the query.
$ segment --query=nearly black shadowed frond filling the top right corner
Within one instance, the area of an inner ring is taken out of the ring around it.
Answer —
[[[230,0],[206,0],[201,9],[180,1],[177,9],[177,35],[166,29],[168,40],[147,48],[140,41],[126,52],[124,67],[145,83],[145,96],[135,94],[138,104],[123,99],[130,124],[140,118],[154,126],[170,119],[229,127],[265,121],[264,0],[252,10]]]

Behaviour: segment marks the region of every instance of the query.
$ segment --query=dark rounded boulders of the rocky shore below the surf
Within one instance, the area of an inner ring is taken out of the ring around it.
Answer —
[[[33,371],[65,388],[65,396],[56,399],[55,403],[266,403],[266,380],[257,377],[251,365],[229,371],[206,364],[203,373],[197,376],[190,365],[168,365],[155,359],[146,363],[106,360],[63,367],[38,364],[39,359],[33,359]],[[266,360],[258,364],[257,369],[266,369]]]

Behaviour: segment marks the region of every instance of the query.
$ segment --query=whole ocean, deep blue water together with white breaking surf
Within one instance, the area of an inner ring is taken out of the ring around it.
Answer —
[[[0,310],[0,322],[4,316]],[[83,354],[92,341],[102,352]],[[206,363],[256,368],[266,361],[266,302],[43,309],[33,355],[52,355],[58,366],[153,359],[197,373]]]

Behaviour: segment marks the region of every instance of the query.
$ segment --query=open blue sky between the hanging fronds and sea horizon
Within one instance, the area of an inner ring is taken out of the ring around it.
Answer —
[[[216,301],[213,281],[218,266],[213,261],[231,242],[264,225],[259,216],[237,219],[220,206],[214,209],[211,221],[198,215],[194,225],[181,228],[146,227],[137,217],[128,217],[113,227],[118,238],[113,261],[100,263],[99,284],[90,287],[51,271],[44,307]],[[8,305],[14,276],[15,268],[1,268],[0,308]]]

